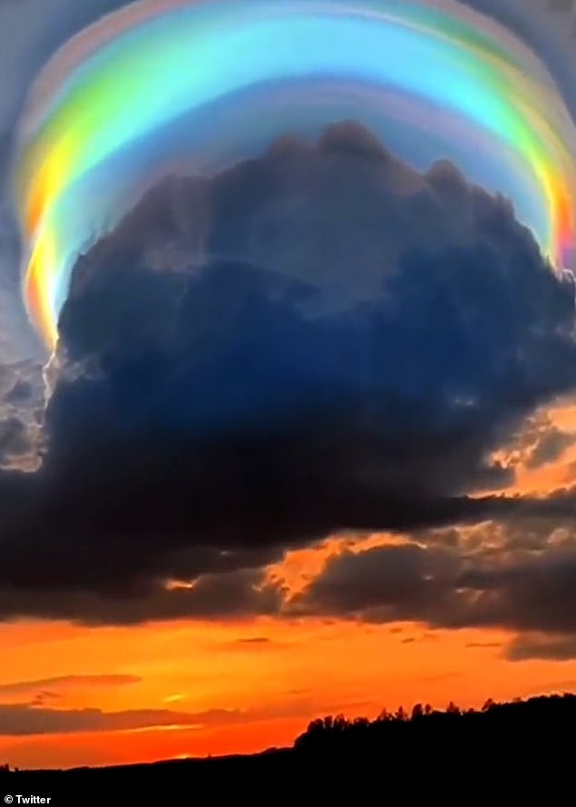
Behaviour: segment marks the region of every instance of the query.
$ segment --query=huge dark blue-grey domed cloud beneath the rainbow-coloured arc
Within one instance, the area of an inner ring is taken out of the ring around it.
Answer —
[[[277,613],[291,546],[505,513],[465,495],[572,388],[573,317],[508,202],[353,124],[164,182],[75,267],[45,465],[0,486],[0,614]]]

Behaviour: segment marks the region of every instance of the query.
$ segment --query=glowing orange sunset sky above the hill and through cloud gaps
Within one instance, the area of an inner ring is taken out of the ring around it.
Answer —
[[[576,432],[576,411],[561,408],[554,419]],[[541,492],[570,484],[575,454],[568,446],[522,481]],[[360,552],[391,540],[375,534],[352,546]],[[270,574],[302,586],[348,546],[333,539],[289,553]],[[2,646],[0,714],[14,734],[0,749],[23,767],[250,753],[291,744],[323,714],[375,716],[420,701],[482,706],[488,697],[576,689],[573,640],[498,628],[339,618],[127,627],[20,619],[2,627]],[[31,733],[26,714],[11,715],[11,705],[64,714],[58,729],[48,718]]]

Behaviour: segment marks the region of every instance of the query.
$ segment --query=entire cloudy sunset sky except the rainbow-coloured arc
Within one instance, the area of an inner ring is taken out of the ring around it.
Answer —
[[[573,690],[573,287],[447,154],[334,122],[160,182],[74,266],[46,369],[17,122],[122,5],[0,0],[0,762]],[[468,5],[576,116],[576,4]]]

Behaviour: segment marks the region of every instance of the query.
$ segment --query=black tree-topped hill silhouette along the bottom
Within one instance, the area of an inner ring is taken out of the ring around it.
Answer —
[[[13,802],[6,803],[15,804],[80,805],[104,799],[111,805],[172,804],[180,803],[176,794],[190,794],[197,787],[210,788],[213,796],[232,788],[240,797],[253,792],[258,782],[299,786],[315,780],[332,788],[350,780],[367,786],[381,781],[383,771],[402,781],[412,776],[411,787],[418,786],[422,775],[452,771],[455,776],[467,770],[480,775],[483,784],[512,776],[521,785],[527,773],[566,772],[562,760],[571,753],[574,727],[576,694],[511,703],[489,699],[480,710],[462,710],[452,702],[445,711],[415,704],[410,712],[402,706],[393,713],[382,710],[374,720],[329,715],[309,723],[292,747],[252,755],[66,771],[18,771],[6,763],[0,765],[0,802],[9,794]],[[33,795],[51,801],[22,801]]]

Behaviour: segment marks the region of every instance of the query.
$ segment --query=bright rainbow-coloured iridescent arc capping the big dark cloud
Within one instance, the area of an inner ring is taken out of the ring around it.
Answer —
[[[214,172],[344,118],[510,197],[552,269],[569,267],[574,124],[488,18],[452,0],[141,0],[65,44],[21,123],[23,288],[47,348],[75,259],[136,189],[176,160]]]

